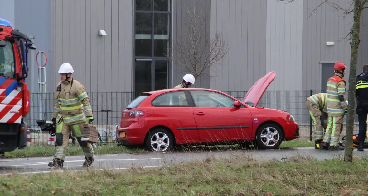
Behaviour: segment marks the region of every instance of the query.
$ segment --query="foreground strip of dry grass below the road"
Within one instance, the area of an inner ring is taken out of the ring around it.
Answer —
[[[359,175],[357,175],[357,172]],[[3,176],[1,195],[367,195],[368,161],[195,161],[125,171],[66,171]]]

